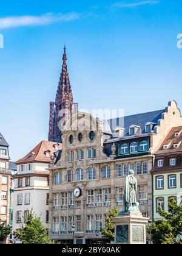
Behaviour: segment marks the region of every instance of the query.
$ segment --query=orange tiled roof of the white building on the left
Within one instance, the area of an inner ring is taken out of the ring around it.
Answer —
[[[52,141],[41,141],[32,151],[30,151],[25,157],[16,161],[16,165],[31,163],[31,162],[50,162],[50,157],[45,155],[46,151],[50,151],[50,155],[52,155],[57,150],[55,149],[55,145],[59,144],[59,149],[62,148],[62,144],[55,143]]]

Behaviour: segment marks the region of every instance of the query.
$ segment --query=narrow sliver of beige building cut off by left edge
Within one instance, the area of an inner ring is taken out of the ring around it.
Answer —
[[[10,160],[8,146],[7,141],[0,133],[0,221],[5,222],[6,225],[10,222],[10,188],[12,183],[12,171],[8,166]]]

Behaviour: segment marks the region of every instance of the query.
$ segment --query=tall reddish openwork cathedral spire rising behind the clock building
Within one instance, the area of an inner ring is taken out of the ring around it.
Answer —
[[[59,78],[55,102],[50,102],[49,141],[61,142],[66,122],[78,111],[78,104],[73,103],[73,93],[67,70],[66,46],[62,57],[62,70]]]

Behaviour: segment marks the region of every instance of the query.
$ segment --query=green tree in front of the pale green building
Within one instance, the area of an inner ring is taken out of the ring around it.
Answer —
[[[151,229],[154,244],[175,244],[182,235],[182,206],[178,206],[175,199],[170,199],[169,210],[164,212],[158,207],[159,214],[163,219],[154,221]]]

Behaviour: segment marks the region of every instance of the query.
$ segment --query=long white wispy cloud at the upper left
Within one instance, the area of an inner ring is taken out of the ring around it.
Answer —
[[[52,24],[56,22],[67,22],[72,20],[78,20],[79,14],[72,13],[46,13],[44,15],[32,16],[9,16],[0,18],[0,29],[10,29],[12,27],[23,27],[23,26],[41,26]]]

